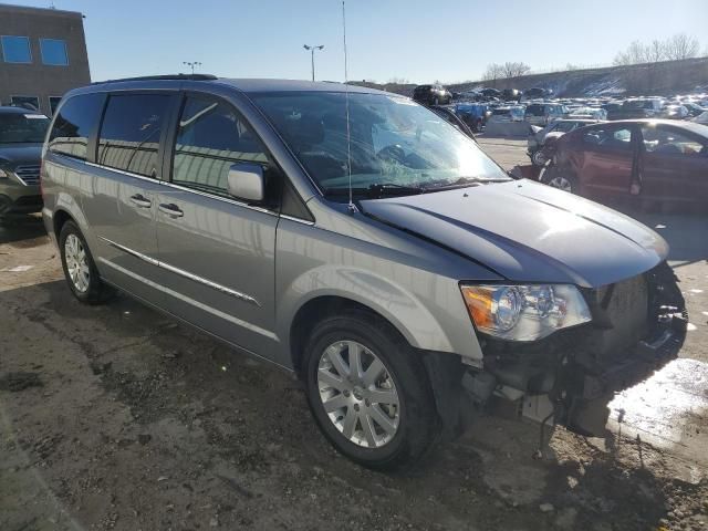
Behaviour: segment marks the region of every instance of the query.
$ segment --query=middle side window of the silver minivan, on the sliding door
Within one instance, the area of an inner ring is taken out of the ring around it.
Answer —
[[[111,96],[98,136],[98,164],[154,177],[169,95]]]

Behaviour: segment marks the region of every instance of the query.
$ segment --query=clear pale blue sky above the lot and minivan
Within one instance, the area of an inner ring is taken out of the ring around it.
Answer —
[[[51,0],[0,0],[49,7]],[[81,11],[94,81],[186,72],[342,81],[341,0],[54,0]],[[487,64],[604,65],[632,41],[688,33],[708,53],[708,0],[347,0],[348,79],[478,80]],[[187,70],[186,70],[187,69]]]

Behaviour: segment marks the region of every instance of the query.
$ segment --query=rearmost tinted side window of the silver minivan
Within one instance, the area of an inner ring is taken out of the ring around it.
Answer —
[[[88,137],[98,122],[102,105],[102,94],[79,95],[65,102],[54,119],[49,150],[85,160]]]

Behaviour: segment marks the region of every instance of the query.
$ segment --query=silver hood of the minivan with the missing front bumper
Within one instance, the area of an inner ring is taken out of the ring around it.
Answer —
[[[596,288],[648,271],[668,254],[666,241],[632,218],[525,179],[361,207],[514,282]]]

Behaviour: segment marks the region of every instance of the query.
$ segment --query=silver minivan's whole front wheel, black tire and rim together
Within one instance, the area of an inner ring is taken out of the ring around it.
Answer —
[[[351,348],[356,352],[357,346],[362,367],[357,373],[363,377],[336,379],[347,373],[337,369],[333,360],[339,354],[339,366],[350,367],[354,363]],[[433,447],[440,431],[433,389],[419,357],[393,326],[364,311],[326,317],[313,329],[304,352],[310,409],[324,436],[341,454],[365,467],[391,470],[415,462]],[[383,369],[371,355],[381,362]],[[372,367],[379,371],[372,369],[369,374],[367,369]],[[369,384],[373,373],[378,376]],[[330,376],[335,376],[334,385],[339,388],[330,385]],[[394,395],[397,405],[391,399]],[[375,402],[376,396],[389,398]],[[331,406],[330,413],[325,403]],[[350,418],[353,420],[347,423]],[[384,421],[379,424],[382,418]],[[352,427],[348,436],[347,424]]]

